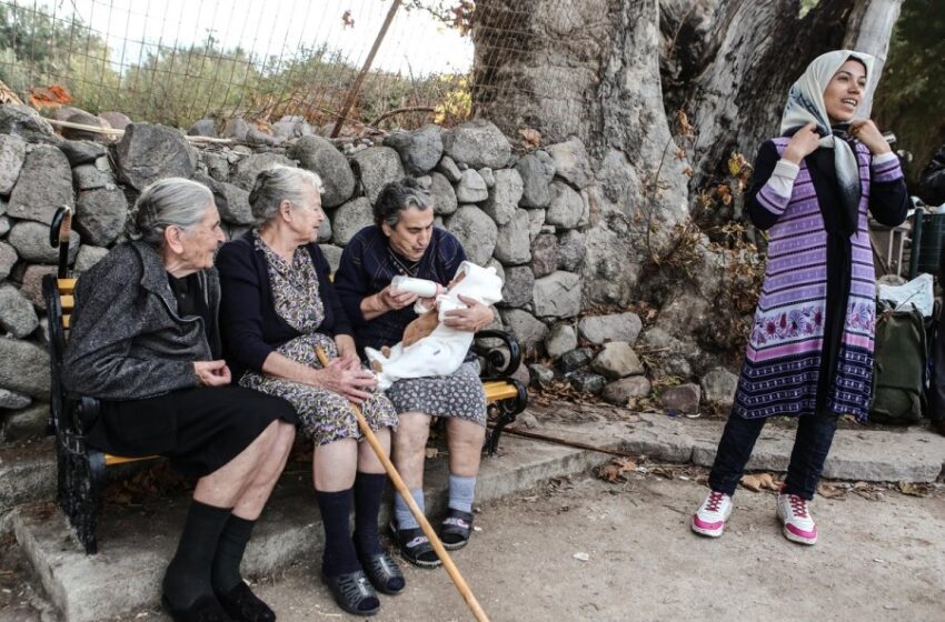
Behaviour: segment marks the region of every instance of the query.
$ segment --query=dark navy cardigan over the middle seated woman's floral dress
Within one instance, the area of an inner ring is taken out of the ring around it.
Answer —
[[[318,332],[332,338],[351,334],[351,325],[329,279],[328,261],[317,244],[307,244],[306,249],[311,254],[325,305],[325,320]],[[222,289],[223,352],[236,383],[248,369],[261,371],[271,352],[300,333],[276,313],[269,262],[262,251],[256,250],[251,231],[223,244],[217,253],[217,269]]]

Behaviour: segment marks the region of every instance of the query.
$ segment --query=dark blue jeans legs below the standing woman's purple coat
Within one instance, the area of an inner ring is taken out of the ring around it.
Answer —
[[[735,494],[735,488],[742,480],[745,464],[752,458],[752,450],[755,449],[755,441],[758,440],[765,421],[767,418],[743,419],[734,413],[728,415],[709,473],[712,490],[729,496]],[[799,418],[790,463],[787,466],[787,479],[784,482],[785,493],[796,494],[807,501],[814,499],[836,431],[836,414],[807,414]]]

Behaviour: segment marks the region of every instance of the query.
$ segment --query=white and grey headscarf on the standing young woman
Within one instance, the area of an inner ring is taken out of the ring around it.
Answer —
[[[793,133],[812,121],[816,123],[816,131],[823,137],[820,147],[834,150],[834,165],[845,207],[856,209],[861,194],[859,164],[849,144],[843,138],[834,136],[830,119],[824,106],[824,91],[827,84],[843,63],[849,59],[858,60],[866,67],[864,96],[869,91],[873,82],[872,56],[853,50],[836,50],[820,54],[807,66],[804,74],[790,87],[784,114],[780,118],[780,133],[782,136]]]

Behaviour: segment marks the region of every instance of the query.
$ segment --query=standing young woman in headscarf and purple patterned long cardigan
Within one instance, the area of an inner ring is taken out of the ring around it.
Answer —
[[[792,415],[799,421],[777,516],[788,540],[817,542],[808,502],[837,419],[869,412],[876,318],[866,214],[895,227],[908,208],[898,159],[873,121],[854,119],[873,79],[867,54],[814,59],[788,92],[782,136],[758,150],[747,205],[769,231],[767,268],[696,533],[722,535],[765,421]]]

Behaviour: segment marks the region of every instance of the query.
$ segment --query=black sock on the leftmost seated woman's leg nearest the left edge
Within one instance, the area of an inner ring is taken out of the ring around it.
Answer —
[[[212,595],[210,568],[230,512],[230,508],[190,503],[177,553],[168,564],[162,585],[165,596],[175,608],[183,609],[205,594]]]

